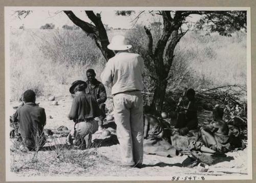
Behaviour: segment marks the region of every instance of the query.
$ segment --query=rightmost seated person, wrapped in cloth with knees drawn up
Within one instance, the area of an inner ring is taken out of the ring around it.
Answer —
[[[230,151],[229,128],[223,118],[223,108],[218,105],[212,111],[214,123],[201,127],[200,134],[204,145],[216,152]],[[199,136],[200,137],[200,136]]]

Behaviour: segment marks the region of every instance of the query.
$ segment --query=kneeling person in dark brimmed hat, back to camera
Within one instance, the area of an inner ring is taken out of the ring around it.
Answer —
[[[72,83],[69,91],[75,94],[68,118],[75,122],[74,130],[67,137],[68,144],[75,144],[80,148],[89,148],[92,133],[97,131],[98,122],[94,120],[101,112],[93,96],[87,95],[84,89],[87,83],[77,80]]]

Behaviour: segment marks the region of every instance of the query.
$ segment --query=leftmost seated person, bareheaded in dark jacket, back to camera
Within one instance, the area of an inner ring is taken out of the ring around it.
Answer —
[[[38,150],[45,144],[46,113],[44,108],[35,104],[35,99],[34,91],[26,90],[23,94],[25,105],[18,107],[13,115],[13,121],[19,123],[18,134],[24,151]]]

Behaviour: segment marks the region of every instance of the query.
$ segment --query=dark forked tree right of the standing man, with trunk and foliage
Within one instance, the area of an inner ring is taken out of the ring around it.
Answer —
[[[131,16],[134,11],[117,11],[117,15]],[[186,34],[182,26],[192,14],[201,15],[197,22],[199,29],[210,28],[211,32],[219,32],[223,36],[231,36],[230,32],[244,29],[246,31],[246,11],[140,11],[134,22],[144,14],[162,16],[162,31],[154,47],[154,38],[149,27],[144,27],[148,37],[147,53],[151,57],[155,69],[156,86],[151,103],[152,112],[160,114],[163,108],[164,96],[168,80],[172,75],[170,69],[174,60],[174,50],[180,39]],[[161,26],[161,25],[159,25]],[[150,62],[151,63],[151,62]],[[152,64],[146,64],[152,67]],[[150,70],[150,68],[148,68]]]

